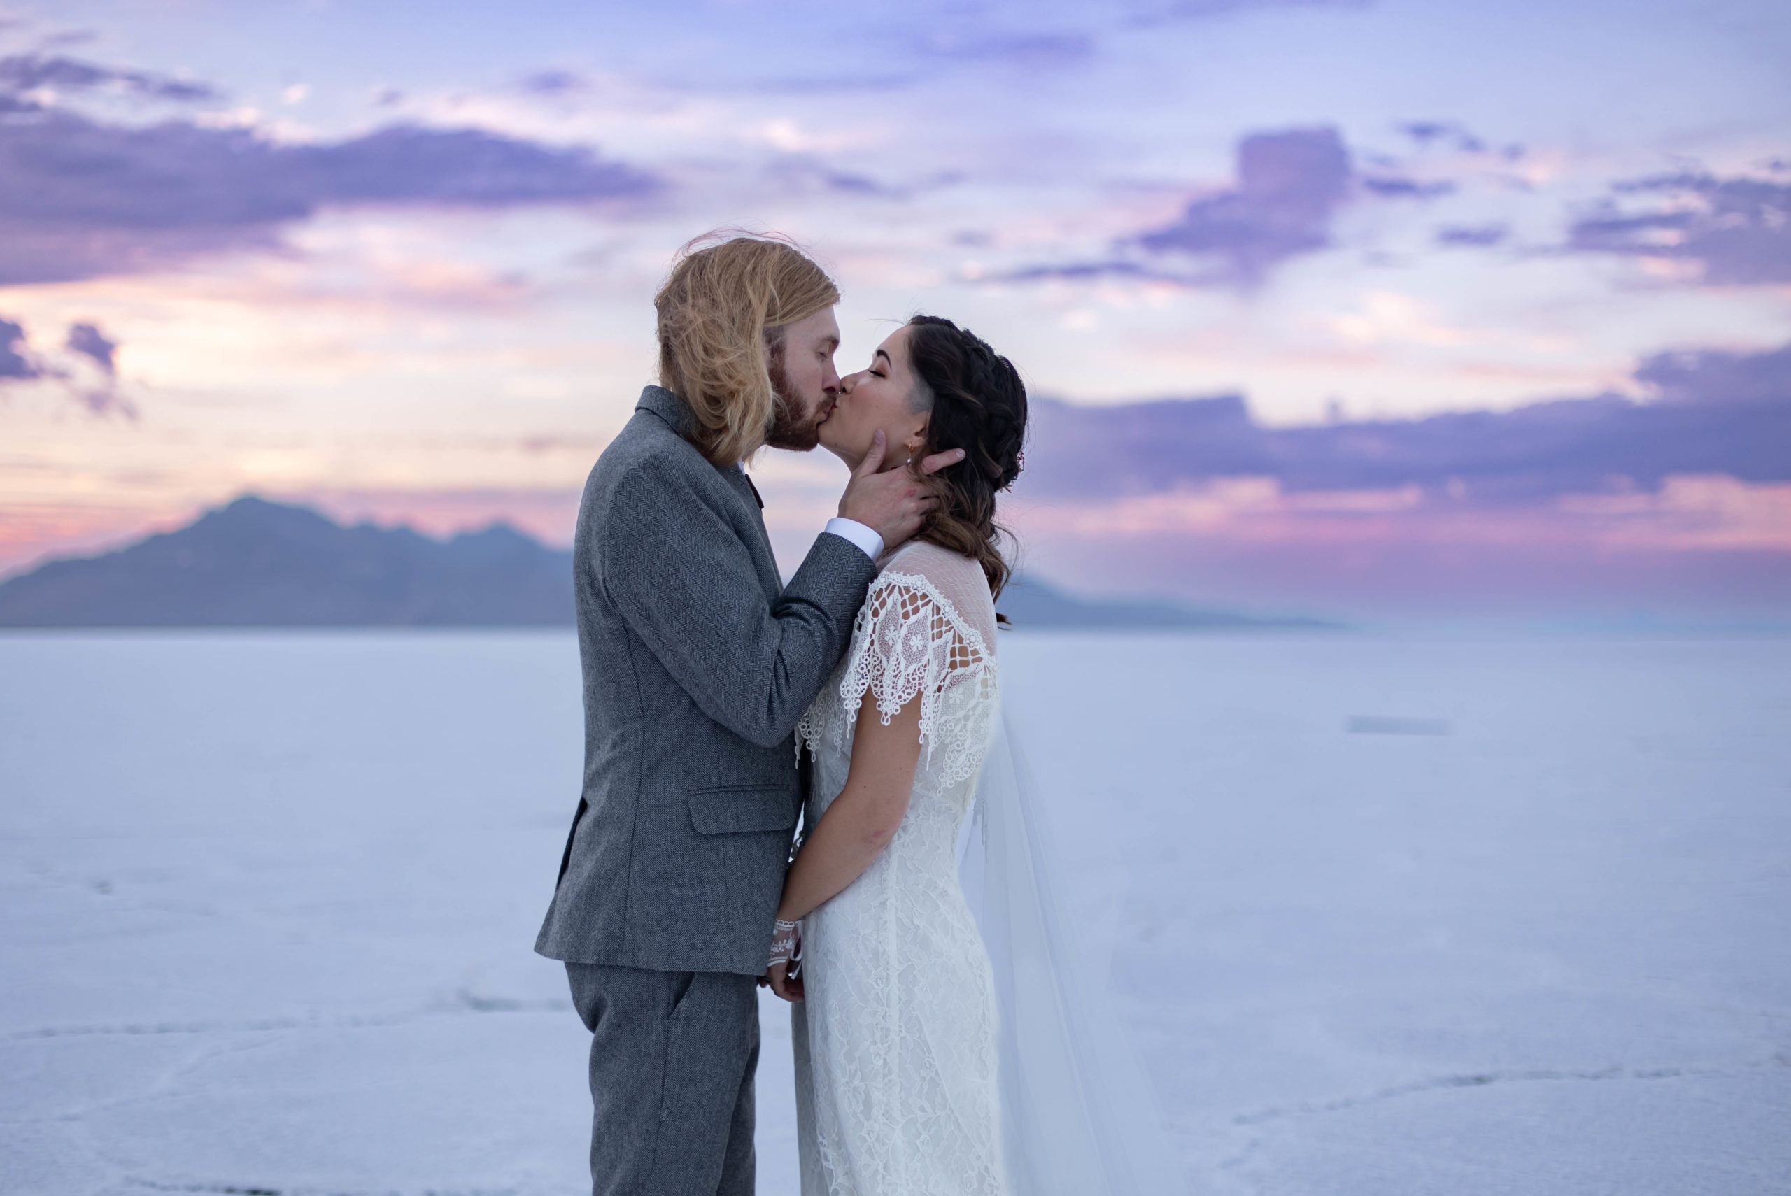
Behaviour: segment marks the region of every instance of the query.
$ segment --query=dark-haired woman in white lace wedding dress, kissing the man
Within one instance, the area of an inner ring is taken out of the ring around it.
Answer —
[[[802,1196],[994,1196],[996,985],[956,845],[996,727],[996,492],[1021,469],[1026,389],[983,340],[919,315],[842,380],[820,442],[856,467],[878,430],[896,462],[967,457],[938,473],[930,526],[878,562],[799,727],[810,831],[767,979],[797,1001]]]

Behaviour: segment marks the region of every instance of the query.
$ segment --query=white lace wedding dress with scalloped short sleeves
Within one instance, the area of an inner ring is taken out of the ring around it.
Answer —
[[[845,786],[863,702],[921,702],[921,763],[901,829],[802,920],[792,1006],[802,1196],[1007,1191],[996,1001],[958,883],[958,829],[996,723],[994,603],[981,566],[926,542],[870,584],[853,645],[801,725],[813,825]]]

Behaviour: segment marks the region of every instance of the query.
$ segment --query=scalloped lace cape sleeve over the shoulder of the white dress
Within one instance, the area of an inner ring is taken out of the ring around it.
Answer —
[[[867,689],[885,727],[919,695],[928,766],[944,752],[940,786],[976,772],[994,730],[996,657],[930,578],[890,571],[870,582],[838,702],[810,707],[797,725],[802,743],[818,748],[826,730],[835,745],[849,747]]]

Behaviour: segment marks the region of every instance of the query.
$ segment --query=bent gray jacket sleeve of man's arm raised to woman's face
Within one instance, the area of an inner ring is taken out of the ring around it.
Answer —
[[[618,480],[598,532],[604,589],[704,714],[772,747],[845,654],[876,564],[824,534],[768,603],[740,528],[697,482],[664,458]]]

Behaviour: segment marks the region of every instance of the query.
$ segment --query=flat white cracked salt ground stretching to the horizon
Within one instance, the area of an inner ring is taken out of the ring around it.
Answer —
[[[1191,1192],[1791,1192],[1791,643],[1001,654]],[[0,637],[0,1191],[586,1191],[578,750],[562,634]]]

